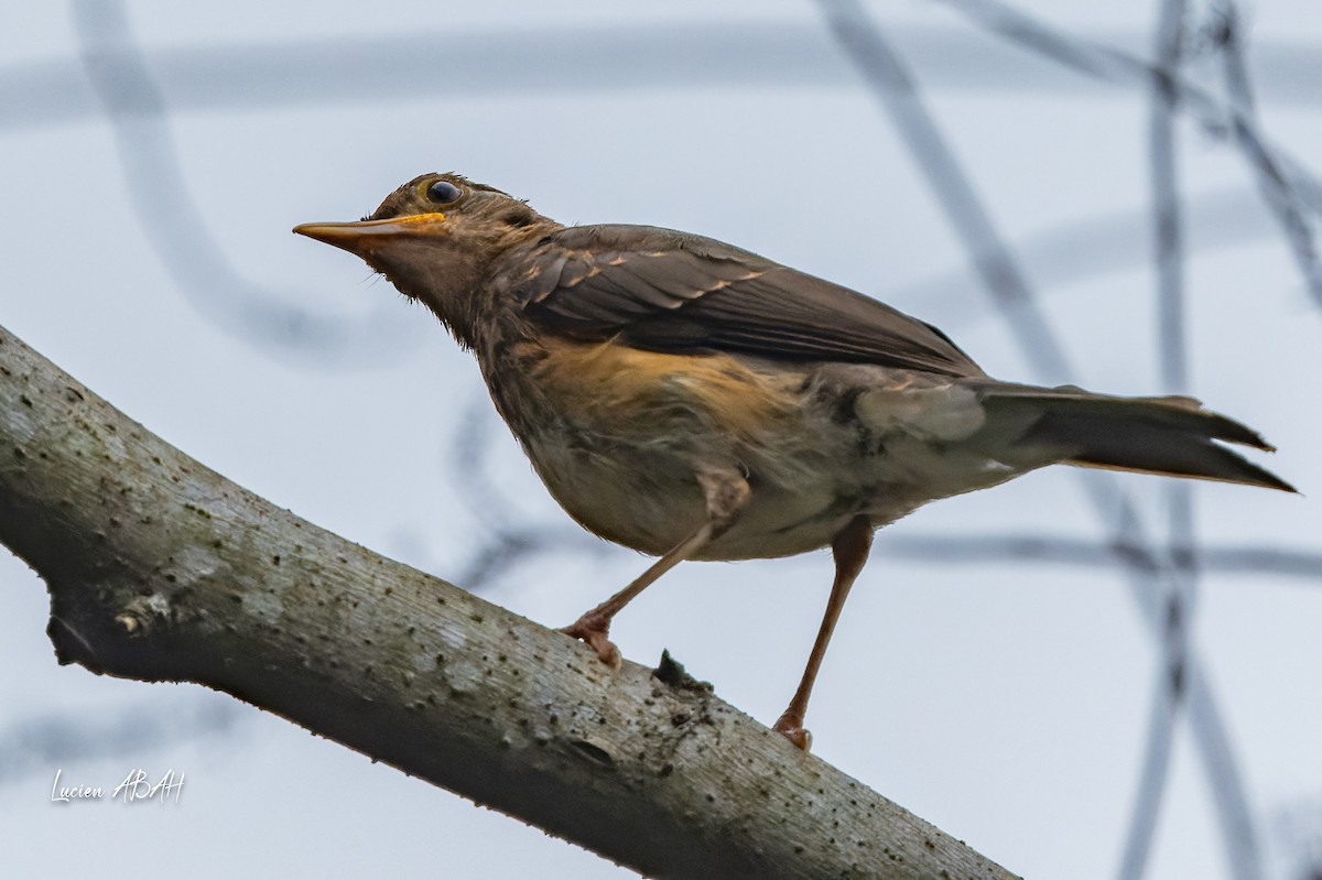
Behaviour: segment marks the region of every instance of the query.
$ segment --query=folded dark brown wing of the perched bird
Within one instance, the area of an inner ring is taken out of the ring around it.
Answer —
[[[525,313],[574,338],[982,375],[929,324],[698,235],[576,226],[545,239],[510,271]]]

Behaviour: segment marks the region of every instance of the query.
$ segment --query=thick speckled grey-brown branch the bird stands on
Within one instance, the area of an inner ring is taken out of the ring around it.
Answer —
[[[653,877],[1007,877],[662,662],[377,556],[0,328],[0,540],[62,663],[197,682]]]

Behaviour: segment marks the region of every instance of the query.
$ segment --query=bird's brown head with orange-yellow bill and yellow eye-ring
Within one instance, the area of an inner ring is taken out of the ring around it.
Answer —
[[[356,223],[303,223],[293,231],[357,254],[468,342],[492,263],[559,227],[498,189],[446,173],[408,181]]]

